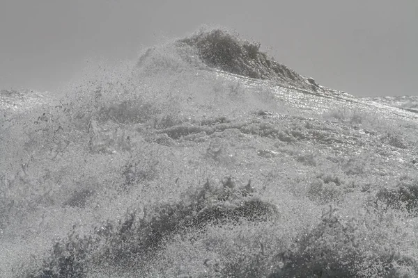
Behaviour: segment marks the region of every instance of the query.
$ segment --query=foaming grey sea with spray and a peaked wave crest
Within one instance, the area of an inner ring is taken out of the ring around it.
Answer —
[[[199,31],[61,97],[1,90],[0,277],[418,277],[413,97],[259,47]]]

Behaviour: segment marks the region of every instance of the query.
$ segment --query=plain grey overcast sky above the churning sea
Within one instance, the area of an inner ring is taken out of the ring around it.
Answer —
[[[0,88],[58,90],[87,60],[218,24],[353,95],[418,95],[417,0],[1,0]]]

